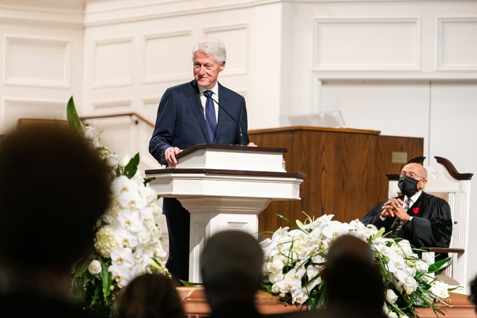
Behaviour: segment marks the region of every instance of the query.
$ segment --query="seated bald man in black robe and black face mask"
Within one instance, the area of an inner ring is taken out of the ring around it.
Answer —
[[[399,197],[377,204],[361,220],[384,227],[391,237],[407,239],[417,249],[449,247],[452,236],[450,206],[444,199],[423,192],[427,171],[421,164],[407,164],[401,171]],[[441,254],[437,259],[447,258]]]

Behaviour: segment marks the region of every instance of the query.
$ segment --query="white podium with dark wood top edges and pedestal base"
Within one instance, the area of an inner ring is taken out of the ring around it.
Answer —
[[[147,170],[161,197],[177,198],[191,213],[189,281],[200,283],[199,258],[208,237],[243,230],[257,237],[258,215],[271,201],[300,200],[302,173],[287,173],[283,148],[196,145],[175,168]]]

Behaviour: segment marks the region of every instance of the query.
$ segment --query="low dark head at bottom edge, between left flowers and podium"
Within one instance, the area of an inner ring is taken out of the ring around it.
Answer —
[[[130,281],[116,302],[118,318],[185,318],[173,281],[163,274],[143,274]]]

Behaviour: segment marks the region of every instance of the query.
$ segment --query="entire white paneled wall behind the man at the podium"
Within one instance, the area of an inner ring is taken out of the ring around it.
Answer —
[[[340,110],[348,127],[422,137],[426,157],[477,175],[477,1],[38,2],[0,0],[0,133],[21,117],[64,118],[70,95],[83,116],[154,122],[166,88],[192,79],[192,46],[210,36],[227,46],[220,82],[246,97],[249,128]],[[158,166],[146,124],[90,122],[117,153]],[[466,253],[475,275],[477,250]]]

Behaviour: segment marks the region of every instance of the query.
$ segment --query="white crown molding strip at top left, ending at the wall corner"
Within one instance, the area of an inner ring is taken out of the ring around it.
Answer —
[[[83,28],[83,11],[34,6],[8,6],[0,4],[0,22],[21,25]]]

